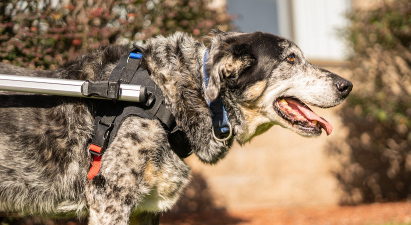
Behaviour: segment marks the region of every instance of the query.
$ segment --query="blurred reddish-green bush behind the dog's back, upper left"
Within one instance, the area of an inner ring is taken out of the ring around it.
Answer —
[[[65,3],[56,3],[65,2]],[[177,30],[201,37],[231,28],[226,8],[210,0],[4,0],[0,61],[56,68],[107,44],[140,42]]]

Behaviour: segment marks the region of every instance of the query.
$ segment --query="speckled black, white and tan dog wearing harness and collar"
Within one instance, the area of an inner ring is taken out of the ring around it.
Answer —
[[[0,64],[0,73],[107,80],[128,46],[105,46],[56,70]],[[176,124],[205,163],[281,125],[303,136],[331,124],[307,105],[341,103],[352,83],[307,61],[291,40],[264,32],[212,31],[207,46],[182,32],[143,45],[142,66],[161,88]],[[206,54],[207,53],[207,54]],[[205,88],[203,73],[210,78]],[[213,137],[209,102],[221,97],[234,139]],[[95,105],[85,98],[0,91],[0,211],[89,214],[89,224],[142,224],[177,201],[190,169],[171,149],[157,120],[129,116],[87,179]]]

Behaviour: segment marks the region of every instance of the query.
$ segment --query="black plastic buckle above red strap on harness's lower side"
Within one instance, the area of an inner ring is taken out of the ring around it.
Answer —
[[[107,148],[110,132],[113,129],[113,124],[109,126],[102,124],[101,120],[98,122],[97,131],[91,138],[89,150],[91,154],[101,156]]]

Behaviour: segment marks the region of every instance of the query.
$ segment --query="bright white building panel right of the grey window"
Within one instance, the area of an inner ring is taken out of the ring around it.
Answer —
[[[292,1],[294,41],[308,59],[344,60],[349,52],[338,29],[350,8],[350,0]]]

